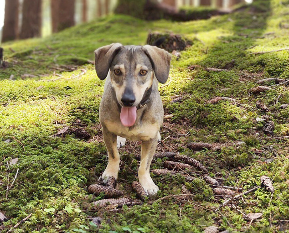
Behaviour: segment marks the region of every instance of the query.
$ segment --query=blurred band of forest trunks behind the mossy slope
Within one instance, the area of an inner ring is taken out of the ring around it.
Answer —
[[[223,12],[226,12],[236,4],[250,3],[251,1],[0,0],[0,41],[48,36],[51,33],[91,21],[114,11],[148,20],[171,18],[172,20],[184,21],[186,20],[184,14],[179,13],[179,10],[184,7],[197,8],[201,6],[223,9]],[[151,15],[152,12],[153,15]]]

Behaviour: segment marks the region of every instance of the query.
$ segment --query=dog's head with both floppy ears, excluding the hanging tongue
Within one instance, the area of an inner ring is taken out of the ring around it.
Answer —
[[[155,46],[110,44],[95,51],[95,69],[100,79],[110,75],[118,103],[136,107],[156,76],[160,83],[168,78],[171,55]]]

